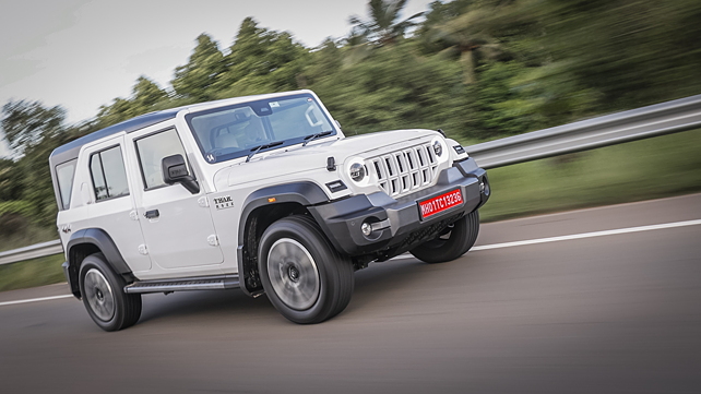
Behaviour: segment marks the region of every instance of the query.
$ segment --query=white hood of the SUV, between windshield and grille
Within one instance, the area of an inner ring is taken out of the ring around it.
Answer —
[[[329,157],[333,157],[336,165],[343,165],[352,157],[378,156],[430,141],[436,135],[439,134],[432,130],[393,130],[329,142],[314,142],[307,146],[288,146],[260,153],[249,163],[239,160],[221,169],[214,176],[214,184],[217,190],[221,190],[229,186],[240,186],[272,177],[301,176],[301,172],[309,170],[325,170]]]

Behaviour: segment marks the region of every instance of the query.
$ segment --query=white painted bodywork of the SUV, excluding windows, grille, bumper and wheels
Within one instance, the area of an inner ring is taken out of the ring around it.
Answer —
[[[313,95],[309,91],[301,93]],[[73,234],[82,228],[105,229],[139,279],[235,274],[238,272],[239,220],[246,200],[257,190],[307,181],[319,186],[329,200],[336,200],[352,194],[383,191],[375,171],[368,171],[363,182],[353,181],[349,177],[353,163],[370,167],[373,165],[370,160],[372,157],[408,152],[436,142],[450,154],[436,159],[432,174],[448,168],[453,159],[466,157],[451,148],[456,144],[454,141],[445,140],[435,131],[399,130],[346,139],[333,124],[335,135],[320,138],[307,146],[299,143],[264,151],[248,163],[246,157],[221,163],[205,159],[186,121],[188,114],[283,95],[191,106],[167,121],[83,146],[74,175],[71,206],[59,213],[59,229],[70,226]],[[324,115],[333,120],[318,99],[317,103]],[[142,176],[135,141],[173,128],[178,133],[189,167],[200,186],[197,194],[191,194],[178,183],[147,189]],[[115,144],[122,147],[130,194],[95,202],[88,168],[90,154]],[[326,168],[330,157],[335,160],[333,170]],[[331,192],[326,184],[338,180],[347,188]],[[435,184],[436,180],[433,177],[420,188]],[[216,199],[224,199],[226,203],[217,204]],[[158,217],[148,219],[144,216],[146,212],[155,210],[158,211]],[[61,234],[64,247],[69,238],[70,234]]]

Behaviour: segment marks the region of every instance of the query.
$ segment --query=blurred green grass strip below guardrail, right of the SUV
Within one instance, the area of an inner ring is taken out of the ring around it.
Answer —
[[[701,191],[701,130],[488,170],[483,222]]]

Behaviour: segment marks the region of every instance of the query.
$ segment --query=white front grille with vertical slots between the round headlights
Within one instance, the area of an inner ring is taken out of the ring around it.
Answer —
[[[396,198],[429,186],[438,174],[430,143],[392,152],[370,159],[380,188]]]

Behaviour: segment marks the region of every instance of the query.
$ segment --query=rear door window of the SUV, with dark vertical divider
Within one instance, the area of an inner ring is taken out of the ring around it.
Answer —
[[[115,146],[94,153],[90,158],[90,171],[93,176],[95,200],[102,201],[129,195],[129,183],[127,182],[121,147]]]

